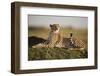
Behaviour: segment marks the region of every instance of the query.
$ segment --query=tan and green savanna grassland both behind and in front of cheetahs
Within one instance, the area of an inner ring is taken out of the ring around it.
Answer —
[[[29,28],[28,37],[36,36],[47,39],[50,29],[46,28]],[[87,46],[87,29],[76,28],[61,28],[63,37],[69,37],[72,32],[75,38],[83,40]],[[52,59],[80,59],[87,58],[87,47],[84,50],[68,49],[68,48],[28,48],[28,60],[52,60]]]

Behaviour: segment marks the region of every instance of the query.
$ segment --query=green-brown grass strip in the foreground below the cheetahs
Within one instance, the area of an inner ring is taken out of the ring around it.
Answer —
[[[66,48],[29,48],[28,60],[79,59],[87,58],[87,50]]]

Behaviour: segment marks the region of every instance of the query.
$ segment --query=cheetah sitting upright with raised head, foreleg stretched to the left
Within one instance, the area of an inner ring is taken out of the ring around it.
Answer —
[[[50,32],[47,40],[32,47],[61,47],[61,34],[59,24],[50,24]]]

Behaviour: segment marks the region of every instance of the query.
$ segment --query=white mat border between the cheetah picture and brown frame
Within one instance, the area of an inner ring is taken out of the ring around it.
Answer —
[[[88,17],[88,58],[28,61],[28,14]],[[40,7],[21,7],[20,17],[21,70],[94,65],[94,11]]]

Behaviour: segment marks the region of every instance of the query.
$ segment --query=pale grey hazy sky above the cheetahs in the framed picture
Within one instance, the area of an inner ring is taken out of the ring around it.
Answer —
[[[87,17],[71,16],[46,16],[46,15],[28,15],[29,26],[49,27],[50,24],[60,24],[62,27],[86,28],[88,25]]]

